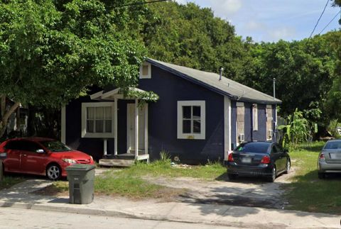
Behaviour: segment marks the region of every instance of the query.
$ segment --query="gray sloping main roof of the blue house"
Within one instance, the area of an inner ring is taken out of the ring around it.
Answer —
[[[273,96],[264,94],[263,92],[252,89],[249,86],[239,84],[238,82],[235,82],[232,79],[227,79],[226,77],[219,79],[219,74],[213,72],[204,72],[189,67],[153,60],[151,58],[148,58],[146,61],[151,63],[151,65],[160,67],[161,69],[171,72],[178,77],[188,79],[190,82],[205,86],[212,91],[229,96],[231,99],[237,101],[249,101],[259,104],[281,104],[281,100],[274,99]]]

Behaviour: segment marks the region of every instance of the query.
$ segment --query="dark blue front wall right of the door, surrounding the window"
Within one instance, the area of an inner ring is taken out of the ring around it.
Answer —
[[[161,150],[167,150],[185,163],[223,160],[224,96],[153,65],[151,72],[151,79],[139,80],[140,89],[154,91],[160,96],[156,103],[148,105],[150,157],[156,159]],[[205,140],[177,138],[177,102],[190,100],[205,101]]]

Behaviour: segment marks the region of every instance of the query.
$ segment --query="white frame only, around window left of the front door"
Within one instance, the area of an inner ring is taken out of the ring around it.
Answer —
[[[87,108],[88,107],[110,107],[112,108],[112,132],[111,133],[87,133]],[[114,138],[114,103],[82,103],[82,138]]]

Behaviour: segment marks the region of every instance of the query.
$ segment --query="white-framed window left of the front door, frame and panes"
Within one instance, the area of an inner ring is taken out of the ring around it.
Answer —
[[[82,104],[82,138],[114,138],[114,103]]]

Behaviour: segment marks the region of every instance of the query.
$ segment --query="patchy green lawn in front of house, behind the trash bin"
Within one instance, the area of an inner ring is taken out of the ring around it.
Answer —
[[[94,192],[110,196],[124,196],[129,199],[172,199],[185,193],[186,190],[151,184],[142,177],[194,177],[210,181],[220,177],[224,172],[226,169],[218,163],[185,167],[172,167],[170,161],[156,161],[150,164],[137,163],[125,169],[110,169],[102,176],[95,177]],[[65,194],[67,186],[67,181],[57,181],[43,193]]]

